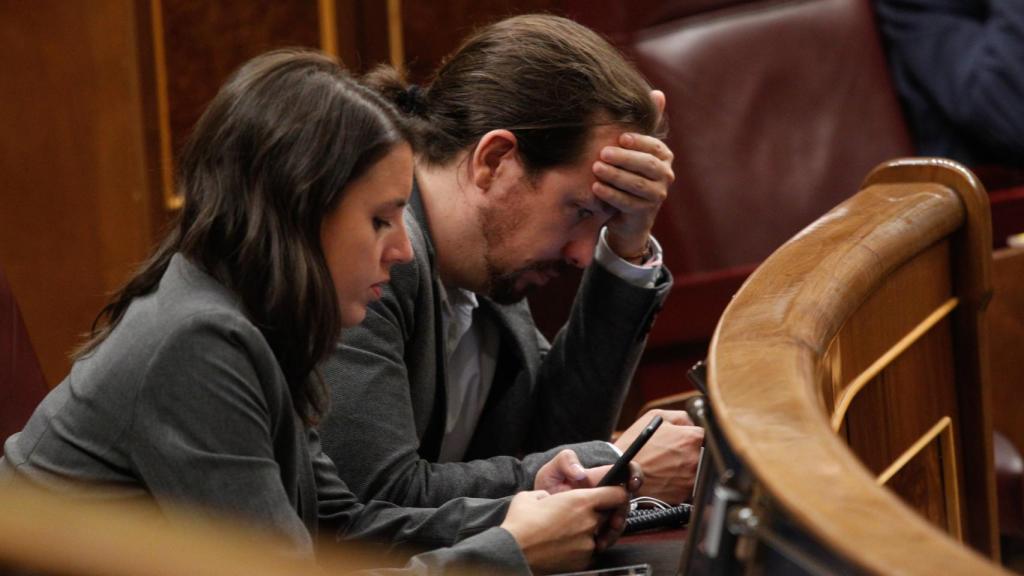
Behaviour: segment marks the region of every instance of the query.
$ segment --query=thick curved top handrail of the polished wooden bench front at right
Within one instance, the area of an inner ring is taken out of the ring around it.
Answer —
[[[877,486],[833,431],[818,389],[829,343],[889,274],[954,233],[987,253],[985,202],[974,176],[954,163],[883,165],[751,276],[712,341],[710,397],[736,456],[798,525],[868,572],[1001,573]],[[978,280],[957,287],[967,305],[987,301],[982,260]]]

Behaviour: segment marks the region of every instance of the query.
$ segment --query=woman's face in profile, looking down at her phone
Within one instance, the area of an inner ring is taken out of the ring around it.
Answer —
[[[348,183],[321,229],[341,325],[355,326],[381,297],[391,264],[413,258],[402,211],[413,189],[413,152],[399,143]]]

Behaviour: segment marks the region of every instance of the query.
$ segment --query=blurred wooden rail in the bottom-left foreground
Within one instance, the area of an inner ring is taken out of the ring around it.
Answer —
[[[324,542],[314,562],[266,532],[207,512],[71,498],[7,479],[0,510],[4,574],[312,576],[394,564],[374,546],[333,542]]]

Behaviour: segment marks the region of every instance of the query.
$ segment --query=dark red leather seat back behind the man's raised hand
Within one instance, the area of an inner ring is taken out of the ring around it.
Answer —
[[[668,96],[677,180],[655,233],[677,276],[761,261],[911,155],[867,0],[660,2],[653,26],[634,4],[621,17],[642,28],[616,34]]]

